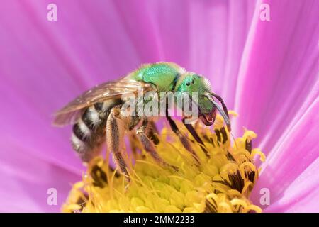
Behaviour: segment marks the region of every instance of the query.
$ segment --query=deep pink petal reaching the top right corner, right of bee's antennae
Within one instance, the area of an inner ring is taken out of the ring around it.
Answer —
[[[271,21],[255,13],[237,83],[235,133],[258,134],[269,153],[292,119],[305,111],[318,80],[318,1],[264,1]],[[305,103],[305,100],[308,100]],[[301,113],[299,112],[302,109]]]

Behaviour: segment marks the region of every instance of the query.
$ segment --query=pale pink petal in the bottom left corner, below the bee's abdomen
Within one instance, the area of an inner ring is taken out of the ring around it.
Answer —
[[[59,212],[71,184],[80,178],[72,172],[30,155],[23,145],[0,143],[1,212]],[[47,204],[47,190],[57,190],[57,204]]]

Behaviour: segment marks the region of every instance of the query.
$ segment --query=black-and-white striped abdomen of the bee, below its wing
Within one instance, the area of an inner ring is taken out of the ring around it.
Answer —
[[[101,153],[106,140],[106,120],[111,109],[121,100],[98,102],[84,110],[82,117],[73,126],[72,146],[82,161],[89,162]]]

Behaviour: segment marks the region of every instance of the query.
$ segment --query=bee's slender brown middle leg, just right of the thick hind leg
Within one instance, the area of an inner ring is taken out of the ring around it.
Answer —
[[[165,162],[162,157],[159,157],[154,143],[152,142],[152,140],[150,140],[150,138],[147,137],[146,135],[146,131],[147,131],[147,119],[145,118],[145,120],[142,123],[142,126],[140,126],[140,128],[138,128],[136,130],[136,135],[138,135],[138,138],[140,139],[140,143],[142,143],[143,148],[145,149],[146,152],[150,153],[150,155],[152,155],[152,157],[159,163],[161,163],[162,165],[165,165],[167,167],[172,167],[175,171],[178,170],[178,167],[175,167],[174,165],[169,165],[167,162]]]

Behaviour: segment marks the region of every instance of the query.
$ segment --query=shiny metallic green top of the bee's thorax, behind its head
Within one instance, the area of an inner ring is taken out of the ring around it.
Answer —
[[[158,92],[172,91],[174,80],[182,68],[171,62],[158,62],[142,65],[138,70],[128,75],[129,79],[154,84]]]

